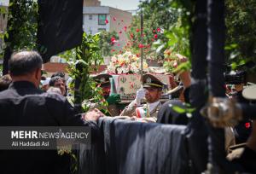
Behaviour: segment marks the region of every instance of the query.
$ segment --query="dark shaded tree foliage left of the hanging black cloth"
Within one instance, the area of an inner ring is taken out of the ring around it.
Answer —
[[[36,49],[38,3],[32,0],[10,1],[8,15],[5,44],[12,50]]]

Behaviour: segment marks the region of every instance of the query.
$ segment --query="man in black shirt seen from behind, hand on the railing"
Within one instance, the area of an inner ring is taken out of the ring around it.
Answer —
[[[42,62],[35,51],[18,52],[10,58],[13,83],[8,90],[0,92],[0,126],[85,125],[90,126],[92,139],[96,139],[96,121],[103,114],[97,109],[77,113],[64,96],[38,90]],[[56,150],[0,151],[0,173],[69,172],[67,156],[57,154]]]

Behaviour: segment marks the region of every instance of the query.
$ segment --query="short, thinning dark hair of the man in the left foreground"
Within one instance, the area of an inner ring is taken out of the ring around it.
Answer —
[[[15,76],[32,73],[41,68],[42,63],[42,57],[36,51],[17,52],[9,60],[9,72]]]

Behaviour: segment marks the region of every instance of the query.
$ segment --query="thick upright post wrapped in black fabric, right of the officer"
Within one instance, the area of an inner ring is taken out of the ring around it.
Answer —
[[[207,168],[207,126],[200,109],[207,102],[207,1],[195,2],[195,21],[192,26],[192,83],[189,102],[195,113],[187,126],[189,156],[192,173],[201,173]],[[199,143],[200,142],[200,143]]]

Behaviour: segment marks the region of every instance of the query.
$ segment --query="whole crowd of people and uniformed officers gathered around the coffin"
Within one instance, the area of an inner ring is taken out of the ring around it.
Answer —
[[[90,126],[92,136],[95,136],[94,139],[96,140],[96,136],[99,134],[96,121],[105,114],[96,106],[91,107],[87,113],[78,113],[67,101],[65,74],[55,73],[51,78],[42,80],[42,63],[41,56],[35,51],[21,51],[11,56],[9,75],[4,75],[0,79],[0,90],[2,91],[0,92],[0,113],[2,115],[0,124],[2,126],[87,125]],[[172,85],[173,90],[169,91],[169,95],[177,97],[166,103],[160,102],[166,84],[152,74],[144,74],[143,87],[137,90],[135,100],[126,106],[122,112],[119,111],[119,108],[117,109],[117,104],[120,102],[119,95],[109,94],[109,78],[111,78],[110,75],[99,75],[95,77],[95,80],[102,86],[111,116],[128,116],[131,120],[147,123],[157,122],[175,125],[187,125],[189,123],[187,114],[178,113],[172,107],[177,106],[185,109],[184,103],[189,103],[189,87],[191,85],[189,71],[178,74],[179,82],[172,82],[174,83]],[[243,117],[239,125],[225,128],[227,141],[225,148],[230,160],[241,165],[243,171],[253,173],[256,172],[254,166],[256,164],[256,124],[253,121],[256,107],[241,95],[243,85],[236,84],[232,91],[227,88],[227,96],[237,99],[235,107],[240,109]],[[145,100],[144,103],[143,100]],[[218,104],[224,105],[224,103]],[[229,107],[228,110],[234,109],[228,105],[224,107]],[[242,145],[237,146],[237,144]],[[239,155],[234,150],[236,146],[243,148]],[[33,173],[68,173],[63,164],[68,165],[69,161],[65,159],[65,156],[56,154],[55,151],[47,153],[40,151],[0,151],[0,154],[2,156],[0,166],[3,173],[31,173],[31,171]],[[27,156],[29,156],[29,161],[24,160]],[[247,162],[248,158],[251,162]]]

